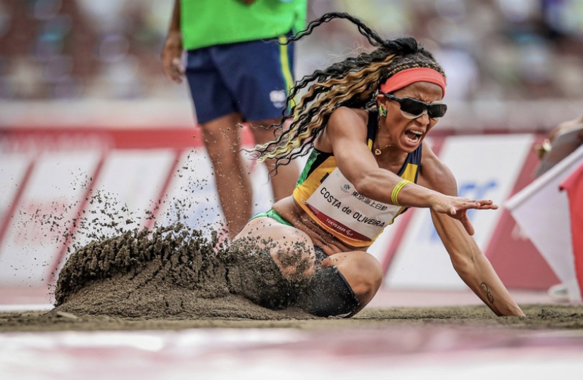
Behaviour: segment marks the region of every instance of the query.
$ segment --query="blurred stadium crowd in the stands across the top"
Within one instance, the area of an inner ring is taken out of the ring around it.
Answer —
[[[187,99],[160,52],[171,0],[0,0],[0,103]],[[451,127],[550,128],[583,108],[583,0],[308,0],[436,53]],[[296,78],[370,49],[334,21],[298,44]],[[187,103],[184,107],[188,108]],[[0,120],[2,115],[0,113]],[[6,124],[6,123],[4,123]],[[0,121],[1,125],[1,121]]]

